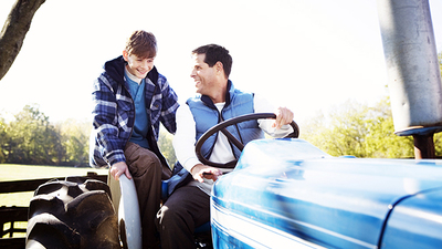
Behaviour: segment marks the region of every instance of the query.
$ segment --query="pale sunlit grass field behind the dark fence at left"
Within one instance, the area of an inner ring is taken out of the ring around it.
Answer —
[[[38,179],[65,176],[85,176],[88,172],[106,175],[107,169],[54,167],[40,165],[0,164],[0,181]],[[29,206],[33,193],[1,194],[0,206]]]

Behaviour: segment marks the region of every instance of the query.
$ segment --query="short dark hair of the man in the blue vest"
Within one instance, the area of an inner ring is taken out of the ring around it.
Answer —
[[[206,54],[204,63],[212,68],[217,62],[221,62],[224,69],[225,77],[229,79],[230,72],[232,71],[232,56],[229,54],[229,50],[224,46],[217,44],[202,45],[192,51],[194,54]]]

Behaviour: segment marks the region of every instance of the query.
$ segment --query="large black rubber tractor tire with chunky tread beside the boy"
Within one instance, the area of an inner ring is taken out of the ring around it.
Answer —
[[[84,177],[40,185],[29,206],[25,248],[120,248],[109,187]]]

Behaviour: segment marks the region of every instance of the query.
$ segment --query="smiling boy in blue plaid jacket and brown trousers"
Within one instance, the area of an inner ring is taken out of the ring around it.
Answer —
[[[91,165],[109,166],[116,180],[134,178],[143,228],[143,247],[157,248],[155,216],[160,206],[161,178],[171,170],[157,141],[159,124],[176,132],[178,98],[154,65],[157,41],[135,31],[123,55],[105,63],[94,82]],[[162,174],[162,176],[161,176]]]

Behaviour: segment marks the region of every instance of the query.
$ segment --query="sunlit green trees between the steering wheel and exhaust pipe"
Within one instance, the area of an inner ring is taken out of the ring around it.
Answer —
[[[333,156],[413,157],[412,137],[394,134],[389,97],[375,107],[348,101],[306,125],[302,137]],[[304,135],[303,135],[304,134]]]

